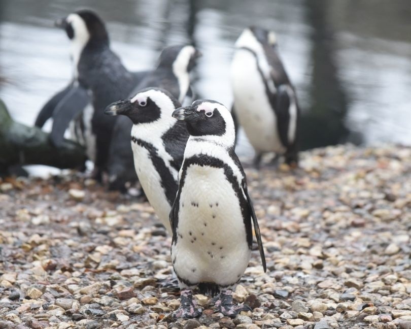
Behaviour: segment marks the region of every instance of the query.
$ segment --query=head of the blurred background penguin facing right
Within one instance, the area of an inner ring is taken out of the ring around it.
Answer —
[[[170,46],[163,49],[160,54],[158,67],[183,70],[190,72],[195,66],[201,53],[190,45]]]

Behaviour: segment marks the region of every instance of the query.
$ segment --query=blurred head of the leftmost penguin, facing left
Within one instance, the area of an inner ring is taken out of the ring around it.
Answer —
[[[55,25],[63,28],[68,39],[72,41],[89,42],[95,45],[109,43],[104,22],[91,10],[79,10],[56,20]]]

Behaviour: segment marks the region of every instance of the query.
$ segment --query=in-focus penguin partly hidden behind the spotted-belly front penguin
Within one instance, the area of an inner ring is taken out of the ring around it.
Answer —
[[[180,103],[168,91],[146,88],[127,100],[109,105],[105,111],[131,120],[135,172],[169,234],[172,231],[168,215],[176,198],[178,171],[188,139],[184,122],[172,117],[178,107]]]

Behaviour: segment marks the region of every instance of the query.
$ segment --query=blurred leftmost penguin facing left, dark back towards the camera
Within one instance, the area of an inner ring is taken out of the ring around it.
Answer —
[[[87,154],[94,162],[94,177],[101,180],[101,175],[107,172],[116,123],[116,119],[106,116],[104,110],[107,105],[127,97],[145,73],[127,71],[110,48],[104,22],[93,11],[77,11],[63,18],[58,25],[64,28],[70,39],[74,77],[91,94],[92,106],[81,113],[77,131],[82,131]],[[128,144],[128,141],[120,143]],[[115,147],[121,149],[122,144]],[[129,145],[127,147],[130,148]],[[136,180],[132,170],[128,174]]]

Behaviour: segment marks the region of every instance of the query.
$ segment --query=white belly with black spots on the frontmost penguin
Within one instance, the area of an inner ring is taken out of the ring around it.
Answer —
[[[234,284],[251,251],[238,199],[223,169],[190,166],[179,206],[178,240],[172,246],[177,275],[194,284]]]

